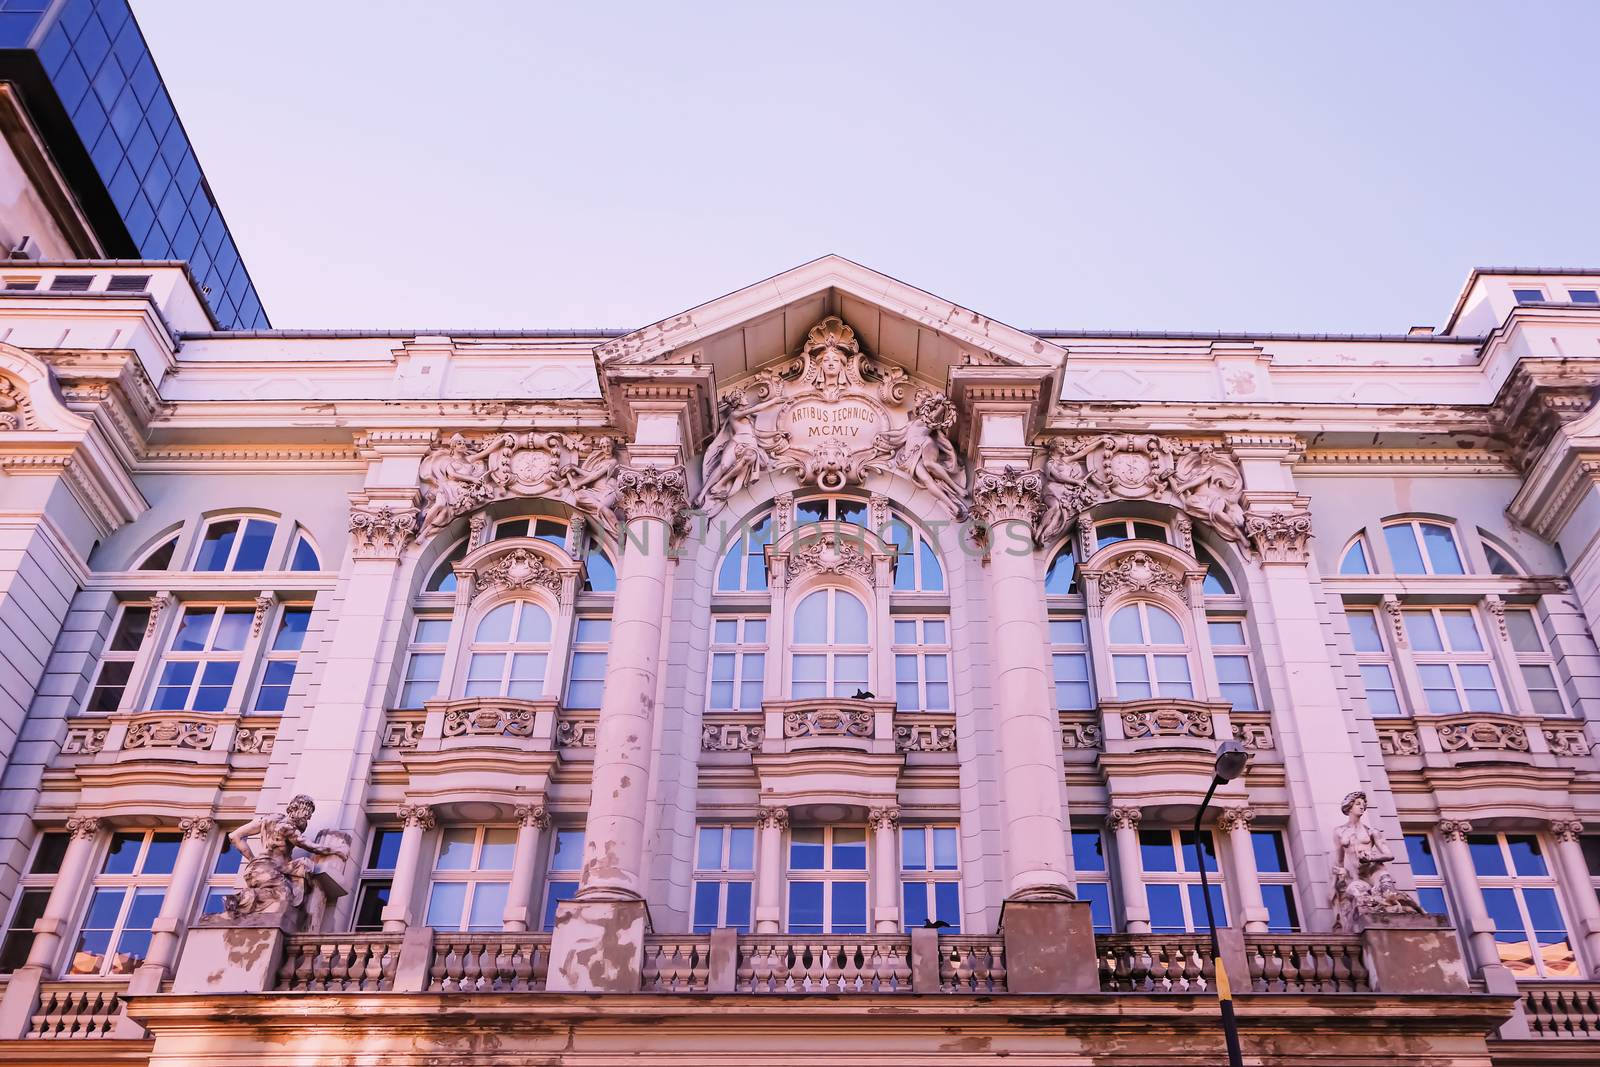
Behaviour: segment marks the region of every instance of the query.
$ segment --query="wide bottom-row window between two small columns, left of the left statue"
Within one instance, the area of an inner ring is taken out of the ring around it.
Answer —
[[[78,923],[69,974],[133,974],[144,963],[181,841],[176,830],[112,833]]]

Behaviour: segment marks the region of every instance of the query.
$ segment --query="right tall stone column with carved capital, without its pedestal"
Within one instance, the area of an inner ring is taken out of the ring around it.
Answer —
[[[1050,635],[1040,605],[1037,470],[979,470],[973,507],[989,530],[994,715],[1005,798],[1006,899],[1070,901],[1061,720],[1050,702]]]

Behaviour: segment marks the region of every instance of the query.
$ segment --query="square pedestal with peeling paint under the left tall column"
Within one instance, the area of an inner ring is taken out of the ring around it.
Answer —
[[[552,993],[637,993],[643,989],[643,901],[562,901],[550,934]]]

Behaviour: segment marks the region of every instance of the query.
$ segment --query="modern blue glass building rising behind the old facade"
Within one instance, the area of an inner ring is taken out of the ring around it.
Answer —
[[[0,80],[109,256],[184,259],[224,328],[270,325],[128,0],[0,0]]]

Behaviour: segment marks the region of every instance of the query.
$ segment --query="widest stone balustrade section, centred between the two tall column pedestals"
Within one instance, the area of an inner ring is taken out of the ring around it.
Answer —
[[[741,993],[909,993],[910,937],[778,934],[739,937]]]

